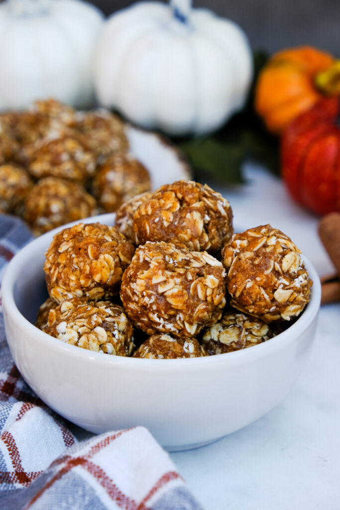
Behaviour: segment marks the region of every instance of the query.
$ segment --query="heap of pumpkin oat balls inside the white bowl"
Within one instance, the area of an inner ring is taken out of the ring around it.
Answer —
[[[268,225],[234,234],[230,204],[178,181],[123,203],[115,226],[57,233],[37,327],[72,345],[134,358],[194,358],[264,342],[303,311],[300,250]]]

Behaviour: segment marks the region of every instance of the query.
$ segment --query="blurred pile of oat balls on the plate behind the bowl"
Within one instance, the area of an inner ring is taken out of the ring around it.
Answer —
[[[0,115],[0,213],[21,216],[38,236],[116,211],[150,189],[128,152],[121,119],[76,111],[55,99]]]

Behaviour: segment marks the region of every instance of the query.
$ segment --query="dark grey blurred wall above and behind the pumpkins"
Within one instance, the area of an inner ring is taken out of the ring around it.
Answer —
[[[92,0],[105,14],[127,7],[126,0]],[[340,55],[340,0],[196,0],[238,22],[253,48],[271,52],[311,44]]]

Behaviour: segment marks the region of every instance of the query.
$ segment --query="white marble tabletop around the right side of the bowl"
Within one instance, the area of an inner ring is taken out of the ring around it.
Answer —
[[[263,169],[248,165],[245,175],[246,185],[218,189],[229,199],[234,221],[271,223],[291,236],[320,275],[332,272],[318,218],[295,205],[282,182]],[[171,457],[205,510],[338,510],[340,303],[322,307],[311,358],[271,412],[211,445]]]

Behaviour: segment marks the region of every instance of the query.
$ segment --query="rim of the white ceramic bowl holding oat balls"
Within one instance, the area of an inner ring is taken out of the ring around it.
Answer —
[[[134,370],[150,370],[152,367],[154,370],[162,370],[165,369],[185,369],[188,370],[190,368],[197,369],[198,367],[208,366],[213,364],[223,365],[228,363],[237,364],[246,364],[252,363],[258,358],[265,357],[270,355],[278,350],[283,349],[287,344],[294,342],[294,340],[298,339],[300,334],[308,327],[308,325],[312,322],[312,320],[318,315],[320,309],[320,301],[321,301],[321,284],[320,278],[316,269],[313,267],[311,262],[307,257],[302,256],[305,262],[306,268],[309,273],[309,277],[313,281],[313,286],[311,288],[311,298],[306,308],[300,317],[294,322],[289,328],[282,333],[279,333],[276,337],[273,337],[266,342],[262,342],[260,344],[253,345],[246,349],[239,349],[232,352],[227,352],[223,354],[215,354],[212,356],[202,356],[200,358],[180,358],[180,359],[147,359],[147,358],[130,358],[128,356],[108,356],[101,352],[90,351],[87,349],[82,349],[80,347],[70,345],[64,342],[61,342],[57,338],[49,336],[44,331],[38,329],[34,324],[32,324],[28,319],[26,319],[18,310],[17,305],[14,300],[14,285],[16,283],[17,272],[20,269],[22,262],[24,260],[28,260],[28,258],[33,255],[36,251],[37,246],[44,245],[44,241],[47,237],[54,236],[57,232],[60,232],[64,228],[67,228],[71,225],[84,222],[84,223],[92,223],[92,222],[101,222],[106,224],[106,221],[110,221],[112,223],[114,220],[114,215],[112,213],[102,214],[93,216],[90,218],[85,218],[83,220],[74,221],[72,223],[68,223],[66,225],[62,225],[58,228],[55,228],[53,231],[47,232],[42,236],[33,239],[23,248],[21,248],[12,260],[9,262],[8,266],[5,269],[1,290],[2,290],[2,301],[3,308],[5,311],[5,321],[6,314],[9,319],[12,320],[19,329],[27,330],[27,333],[30,337],[35,338],[37,342],[43,344],[45,348],[50,347],[51,350],[59,349],[64,350],[70,356],[75,356],[76,358],[82,358],[84,360],[91,360],[93,362],[98,362],[104,365],[121,365],[126,367],[132,367]],[[236,228],[240,230],[240,227],[244,230],[249,227],[245,227],[245,225],[236,224]],[[242,230],[241,230],[242,232]],[[49,344],[49,345],[48,345]],[[228,361],[229,360],[229,361]]]

